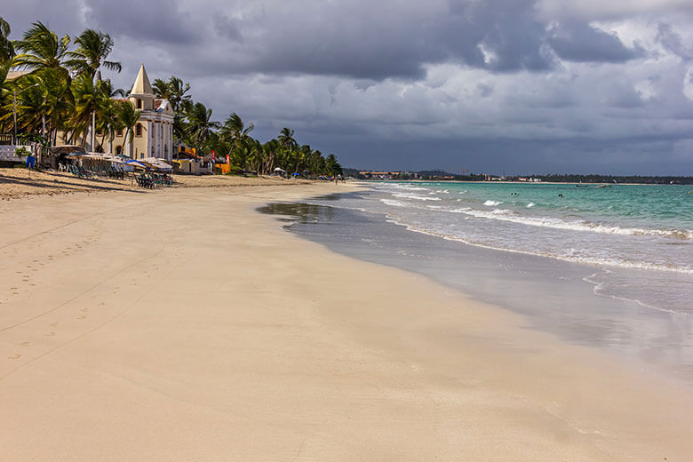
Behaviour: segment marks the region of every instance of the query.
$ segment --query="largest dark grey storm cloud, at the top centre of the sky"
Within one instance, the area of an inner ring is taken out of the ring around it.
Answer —
[[[461,2],[422,9],[414,4],[322,3],[308,12],[263,12],[241,21],[217,15],[230,44],[223,60],[200,57],[217,72],[301,73],[382,80],[417,79],[426,64],[456,61],[494,71],[545,70],[545,27],[533,19],[533,1]],[[221,48],[221,47],[220,47]]]

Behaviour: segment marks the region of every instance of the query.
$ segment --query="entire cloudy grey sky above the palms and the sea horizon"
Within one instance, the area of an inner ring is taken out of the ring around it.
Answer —
[[[691,0],[0,0],[345,167],[693,175]]]

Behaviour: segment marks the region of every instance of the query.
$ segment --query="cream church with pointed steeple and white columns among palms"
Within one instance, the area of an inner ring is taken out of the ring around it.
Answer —
[[[112,152],[129,155],[133,159],[156,157],[171,161],[173,109],[169,100],[155,97],[144,64],[139,68],[127,100],[139,112],[139,120],[133,129],[134,139],[130,142],[130,136],[125,139],[125,130],[117,131]]]

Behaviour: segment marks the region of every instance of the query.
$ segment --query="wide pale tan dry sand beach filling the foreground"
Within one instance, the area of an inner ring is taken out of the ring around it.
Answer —
[[[0,203],[0,459],[690,460],[689,388],[252,211],[348,188]]]

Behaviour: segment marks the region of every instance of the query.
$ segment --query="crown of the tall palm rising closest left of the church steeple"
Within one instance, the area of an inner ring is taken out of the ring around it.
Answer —
[[[68,52],[70,58],[66,63],[68,68],[76,71],[77,76],[86,74],[92,79],[96,76],[97,81],[101,81],[101,68],[120,72],[122,66],[119,62],[108,61],[108,55],[113,51],[113,39],[108,34],[98,32],[93,29],[86,29],[80,36],[76,37],[75,44],[77,49]]]

